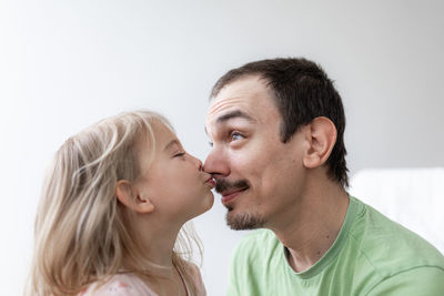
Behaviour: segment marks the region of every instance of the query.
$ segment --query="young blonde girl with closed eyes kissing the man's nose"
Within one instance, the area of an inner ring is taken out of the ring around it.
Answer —
[[[122,113],[71,136],[43,185],[29,293],[205,295],[189,262],[199,241],[182,226],[211,208],[212,187],[157,113]]]

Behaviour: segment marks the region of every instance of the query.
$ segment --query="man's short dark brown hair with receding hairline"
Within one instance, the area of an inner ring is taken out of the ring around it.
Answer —
[[[221,76],[211,91],[211,99],[231,82],[248,75],[259,75],[274,92],[282,115],[281,141],[286,143],[299,127],[315,118],[329,118],[337,130],[336,143],[326,161],[329,176],[349,186],[344,145],[345,114],[333,81],[316,63],[303,58],[262,60],[244,64]]]

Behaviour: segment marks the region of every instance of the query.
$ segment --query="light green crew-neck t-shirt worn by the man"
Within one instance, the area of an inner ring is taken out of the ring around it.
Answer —
[[[228,295],[443,296],[444,257],[425,239],[350,197],[335,242],[302,273],[290,267],[271,231],[246,235],[233,256]]]

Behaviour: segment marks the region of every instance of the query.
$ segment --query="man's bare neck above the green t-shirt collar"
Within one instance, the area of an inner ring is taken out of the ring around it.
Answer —
[[[349,207],[345,190],[337,185],[317,188],[295,205],[272,231],[287,248],[290,266],[297,273],[313,266],[336,239]]]

